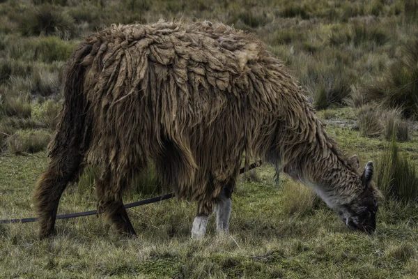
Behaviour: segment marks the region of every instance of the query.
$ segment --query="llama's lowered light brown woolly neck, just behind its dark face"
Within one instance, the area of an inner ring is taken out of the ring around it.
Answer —
[[[312,117],[311,121],[308,127],[316,129],[307,132],[309,137],[287,146],[288,153],[282,149],[284,172],[314,188],[331,208],[346,204],[361,189],[359,174],[318,119]]]

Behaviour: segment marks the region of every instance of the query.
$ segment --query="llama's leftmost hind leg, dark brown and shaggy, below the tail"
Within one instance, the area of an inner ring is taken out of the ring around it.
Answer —
[[[67,156],[64,160],[52,158],[47,170],[36,183],[33,199],[39,216],[40,239],[54,234],[59,199],[68,183],[77,179],[82,169],[79,159],[77,156]]]

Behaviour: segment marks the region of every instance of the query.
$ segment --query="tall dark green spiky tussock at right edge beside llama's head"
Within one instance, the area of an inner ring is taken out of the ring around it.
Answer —
[[[377,183],[387,199],[400,202],[417,202],[417,165],[407,154],[400,153],[393,139],[387,151],[378,160]]]

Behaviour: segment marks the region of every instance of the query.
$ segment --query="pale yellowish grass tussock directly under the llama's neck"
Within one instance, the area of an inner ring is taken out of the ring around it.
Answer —
[[[293,180],[286,181],[281,191],[282,209],[288,216],[304,216],[310,213],[319,200],[310,188]]]

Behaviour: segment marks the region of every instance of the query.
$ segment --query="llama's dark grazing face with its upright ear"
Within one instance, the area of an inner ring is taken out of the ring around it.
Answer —
[[[350,229],[359,229],[369,234],[376,230],[376,213],[378,201],[382,194],[373,185],[373,163],[366,164],[364,172],[359,176],[362,191],[348,204],[336,206],[336,213]]]

